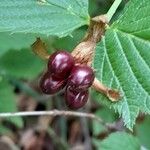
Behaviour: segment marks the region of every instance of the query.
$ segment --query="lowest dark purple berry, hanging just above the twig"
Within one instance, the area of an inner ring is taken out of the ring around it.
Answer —
[[[89,95],[88,90],[79,92],[71,90],[70,87],[67,87],[65,91],[66,105],[70,109],[81,108],[86,104],[88,100],[88,95]]]

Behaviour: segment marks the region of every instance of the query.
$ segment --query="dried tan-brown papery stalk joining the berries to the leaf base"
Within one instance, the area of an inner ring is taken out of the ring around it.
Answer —
[[[85,37],[72,51],[72,56],[75,58],[76,63],[92,65],[96,43],[100,41],[105,32],[106,22],[104,18],[103,15],[91,19]]]

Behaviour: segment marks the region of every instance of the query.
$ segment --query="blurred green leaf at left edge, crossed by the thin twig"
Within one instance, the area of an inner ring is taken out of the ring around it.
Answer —
[[[4,79],[0,81],[0,112],[16,112],[16,101],[13,88]],[[17,127],[23,127],[21,117],[7,118],[8,121],[14,123]]]

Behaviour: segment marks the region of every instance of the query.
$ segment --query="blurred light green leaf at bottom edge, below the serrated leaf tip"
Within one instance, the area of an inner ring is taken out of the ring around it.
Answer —
[[[140,150],[141,146],[136,137],[125,132],[110,134],[102,142],[93,141],[98,150]]]

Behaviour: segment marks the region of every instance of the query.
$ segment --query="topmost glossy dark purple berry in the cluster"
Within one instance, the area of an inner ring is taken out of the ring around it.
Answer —
[[[69,76],[74,66],[74,58],[66,51],[57,51],[53,53],[48,62],[48,70],[56,78],[65,79]]]

